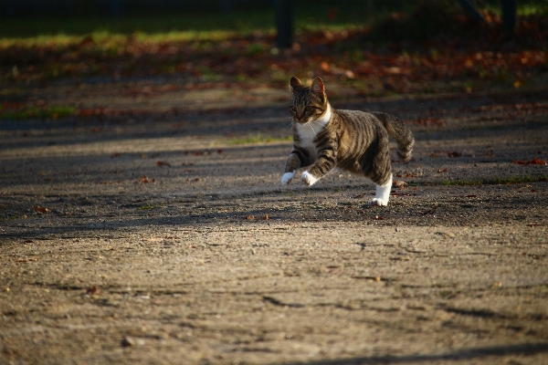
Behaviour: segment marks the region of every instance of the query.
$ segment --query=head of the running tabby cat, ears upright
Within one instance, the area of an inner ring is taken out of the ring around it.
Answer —
[[[299,78],[292,77],[290,113],[298,123],[320,118],[328,108],[327,96],[321,78],[314,78],[310,88],[302,86]]]

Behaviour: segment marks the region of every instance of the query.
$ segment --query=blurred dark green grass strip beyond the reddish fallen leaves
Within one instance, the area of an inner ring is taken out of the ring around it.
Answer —
[[[434,5],[444,13],[460,7],[472,18],[486,13],[501,16],[504,11],[545,16],[548,8],[543,0],[1,0],[0,18],[2,36],[269,31],[275,26],[276,9],[283,8],[294,12],[299,31],[319,26],[372,26],[387,16],[401,17],[417,7]]]

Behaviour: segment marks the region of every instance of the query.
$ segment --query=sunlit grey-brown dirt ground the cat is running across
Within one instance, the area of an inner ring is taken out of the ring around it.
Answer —
[[[548,363],[548,89],[334,101],[416,136],[369,207],[280,185],[287,91],[153,87],[0,121],[0,363]]]

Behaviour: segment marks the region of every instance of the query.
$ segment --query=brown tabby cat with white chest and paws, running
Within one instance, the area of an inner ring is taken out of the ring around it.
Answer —
[[[415,143],[411,130],[402,120],[385,113],[335,110],[321,78],[314,78],[310,88],[295,77],[290,85],[293,150],[281,183],[289,184],[300,167],[308,167],[300,180],[313,185],[338,167],[363,174],[375,183],[370,205],[388,204],[392,187],[388,135],[395,138],[400,159],[409,162]]]

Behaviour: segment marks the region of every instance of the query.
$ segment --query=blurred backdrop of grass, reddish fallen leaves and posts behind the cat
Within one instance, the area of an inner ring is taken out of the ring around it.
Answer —
[[[547,35],[545,0],[0,0],[0,118],[59,80],[321,76],[332,99],[538,89]]]

